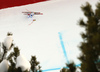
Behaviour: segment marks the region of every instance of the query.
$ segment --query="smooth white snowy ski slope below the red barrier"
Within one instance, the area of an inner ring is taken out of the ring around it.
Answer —
[[[3,41],[7,32],[12,32],[14,43],[21,53],[28,60],[31,55],[36,55],[43,70],[62,68],[67,60],[79,64],[78,45],[82,41],[80,32],[83,29],[77,24],[79,19],[84,17],[80,6],[86,1],[95,8],[98,0],[51,0],[1,9],[0,41]],[[26,9],[42,12],[43,15],[34,16],[36,21],[29,25],[32,19],[22,14]],[[62,34],[67,60],[58,32]],[[55,70],[55,72],[59,71]]]

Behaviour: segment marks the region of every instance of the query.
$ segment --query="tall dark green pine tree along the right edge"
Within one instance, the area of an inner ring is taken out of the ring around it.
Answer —
[[[80,19],[79,25],[85,28],[85,32],[81,33],[83,42],[79,46],[82,54],[79,60],[82,62],[82,72],[99,72],[97,62],[100,56],[100,3],[96,5],[93,11],[91,5],[87,2],[81,6],[87,21]]]

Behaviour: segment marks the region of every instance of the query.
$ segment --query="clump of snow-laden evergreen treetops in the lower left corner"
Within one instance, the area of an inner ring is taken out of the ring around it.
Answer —
[[[0,44],[0,72],[41,72],[40,68],[35,56],[29,62],[20,54],[19,48],[13,44],[12,33],[8,33]]]

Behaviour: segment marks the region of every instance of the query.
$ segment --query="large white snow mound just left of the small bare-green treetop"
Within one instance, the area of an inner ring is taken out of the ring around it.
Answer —
[[[16,63],[16,68],[20,67],[22,71],[30,70],[30,63],[23,55],[17,57]]]

